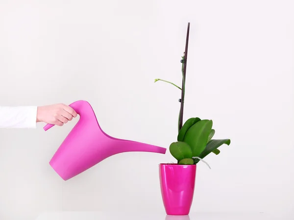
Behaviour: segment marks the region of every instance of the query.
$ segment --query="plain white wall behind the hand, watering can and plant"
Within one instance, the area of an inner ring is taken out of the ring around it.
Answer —
[[[291,0],[0,0],[0,104],[91,103],[110,135],[176,140],[181,55],[191,23],[184,120],[212,119],[221,154],[199,163],[192,211],[293,216]],[[0,219],[45,211],[164,209],[158,164],[110,157],[69,181],[49,160],[77,122],[0,130]]]

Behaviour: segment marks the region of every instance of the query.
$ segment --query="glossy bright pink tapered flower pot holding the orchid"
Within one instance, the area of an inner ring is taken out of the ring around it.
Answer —
[[[195,178],[196,165],[159,165],[161,196],[167,215],[189,215]]]

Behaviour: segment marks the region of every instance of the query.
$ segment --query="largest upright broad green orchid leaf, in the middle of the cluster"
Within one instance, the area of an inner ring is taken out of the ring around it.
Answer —
[[[184,137],[184,142],[191,147],[194,157],[199,156],[205,149],[211,128],[211,120],[201,120],[195,123],[187,131]]]

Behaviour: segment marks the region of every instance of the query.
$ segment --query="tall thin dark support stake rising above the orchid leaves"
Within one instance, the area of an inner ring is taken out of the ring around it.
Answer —
[[[186,37],[186,48],[184,52],[184,59],[181,61],[183,66],[183,79],[182,79],[182,96],[181,96],[181,108],[180,108],[180,115],[179,115],[179,130],[183,126],[183,114],[184,114],[184,101],[185,101],[185,82],[186,82],[186,69],[187,69],[187,57],[188,57],[188,42],[189,42],[189,30],[190,30],[190,22],[188,23],[187,28],[187,37]]]

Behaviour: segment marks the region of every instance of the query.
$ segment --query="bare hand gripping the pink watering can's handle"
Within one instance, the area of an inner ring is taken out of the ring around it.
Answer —
[[[65,104],[38,106],[37,122],[62,126],[77,116],[72,107]]]

